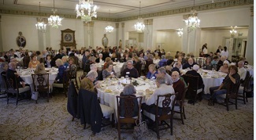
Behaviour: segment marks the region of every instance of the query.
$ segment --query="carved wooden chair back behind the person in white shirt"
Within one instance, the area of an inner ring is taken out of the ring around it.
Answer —
[[[174,105],[175,105],[175,102],[176,102],[176,94],[167,94],[167,95],[158,95],[158,99],[157,99],[157,105],[159,106],[159,99],[162,99],[162,102],[161,102],[161,117],[166,117],[169,116],[169,115],[173,115],[173,110],[174,110]],[[171,107],[170,107],[171,105]],[[158,117],[158,112],[159,112],[159,107],[156,107],[156,113],[155,113],[155,118]],[[164,120],[165,120],[164,119]]]

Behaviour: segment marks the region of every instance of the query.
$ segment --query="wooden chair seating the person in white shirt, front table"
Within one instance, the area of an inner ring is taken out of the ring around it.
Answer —
[[[167,95],[158,95],[157,105],[159,106],[159,99],[162,100],[162,108],[161,115],[158,115],[159,107],[156,107],[156,112],[148,113],[146,110],[143,110],[143,115],[154,120],[154,127],[151,127],[153,131],[157,133],[158,139],[160,139],[159,131],[169,129],[171,130],[171,135],[173,135],[173,114],[174,114],[174,105],[176,102],[176,94],[167,94]],[[171,107],[170,107],[171,105]],[[168,124],[165,120],[170,120],[170,124]],[[159,124],[159,122],[161,122]],[[167,127],[161,127],[166,125]]]

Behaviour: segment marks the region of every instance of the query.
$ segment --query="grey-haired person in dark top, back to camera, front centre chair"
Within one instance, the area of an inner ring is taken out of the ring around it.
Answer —
[[[132,96],[135,97],[136,94],[136,89],[132,84],[127,84],[124,87],[124,91],[121,92],[120,96]],[[133,106],[133,112],[132,112],[132,117],[138,116],[139,113],[139,103],[137,99],[133,99],[134,106]],[[120,100],[120,106],[121,106],[121,113],[120,116],[124,117],[125,114],[125,109],[124,109],[124,99]]]

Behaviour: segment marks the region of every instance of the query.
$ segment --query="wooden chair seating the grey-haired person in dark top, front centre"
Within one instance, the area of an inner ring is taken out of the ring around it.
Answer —
[[[119,96],[117,95],[117,131],[118,131],[118,139],[121,139],[121,124],[135,124],[135,121],[140,118],[140,106],[143,97],[133,97],[133,96]],[[138,115],[136,117],[133,116],[135,102],[138,101]],[[121,101],[124,102],[124,106],[121,106]],[[123,108],[124,110],[121,110]],[[124,117],[121,117],[121,111],[124,111]]]

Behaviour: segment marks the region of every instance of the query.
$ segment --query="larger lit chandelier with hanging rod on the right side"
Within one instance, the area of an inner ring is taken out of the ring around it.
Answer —
[[[192,30],[200,26],[200,20],[198,19],[198,16],[195,15],[195,0],[193,14],[192,16],[189,16],[187,20],[185,20],[185,23],[187,27],[191,28]]]

